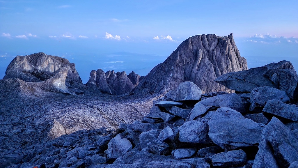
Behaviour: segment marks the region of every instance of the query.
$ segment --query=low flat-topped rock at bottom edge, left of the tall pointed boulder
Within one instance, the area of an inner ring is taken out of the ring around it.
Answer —
[[[231,150],[221,152],[211,157],[212,165],[215,167],[240,167],[247,161],[247,155],[243,150]]]

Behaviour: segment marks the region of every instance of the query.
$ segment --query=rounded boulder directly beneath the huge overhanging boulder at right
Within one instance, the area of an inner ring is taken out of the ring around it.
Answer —
[[[254,88],[250,95],[249,111],[258,110],[258,107],[264,107],[269,100],[280,100],[282,102],[290,101],[290,98],[285,91],[278,90],[269,86]]]

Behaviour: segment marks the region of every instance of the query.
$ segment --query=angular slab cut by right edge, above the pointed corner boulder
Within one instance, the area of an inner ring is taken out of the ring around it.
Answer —
[[[263,112],[287,118],[292,121],[298,121],[298,107],[296,105],[283,103],[279,100],[269,100]]]

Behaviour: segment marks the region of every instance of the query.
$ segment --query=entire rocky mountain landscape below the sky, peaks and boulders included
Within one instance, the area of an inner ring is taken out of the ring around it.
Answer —
[[[0,167],[298,167],[297,82],[288,61],[247,70],[232,34],[85,85],[66,59],[17,56],[0,80]]]

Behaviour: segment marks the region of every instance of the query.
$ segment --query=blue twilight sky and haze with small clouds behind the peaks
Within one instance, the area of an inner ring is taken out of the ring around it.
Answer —
[[[298,70],[298,1],[0,0],[0,78],[17,55],[44,52],[91,70],[147,75],[190,36],[233,33],[248,67]]]

